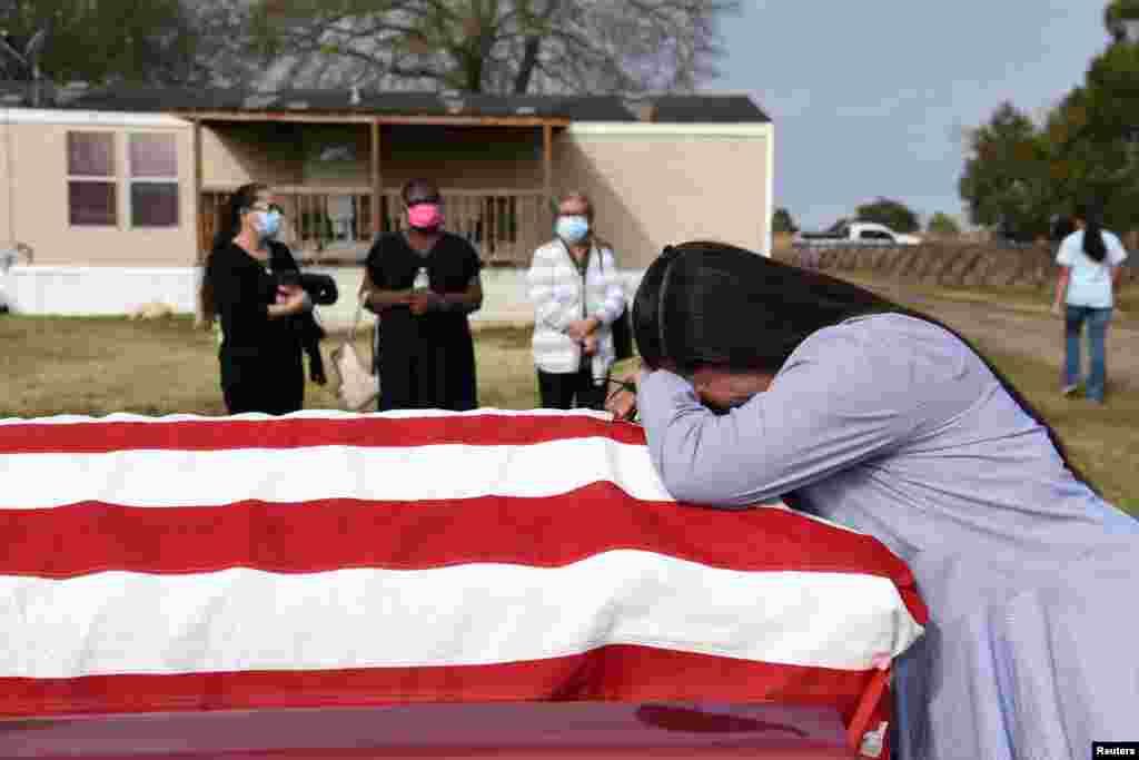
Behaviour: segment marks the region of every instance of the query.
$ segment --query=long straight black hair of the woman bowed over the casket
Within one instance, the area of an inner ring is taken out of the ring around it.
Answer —
[[[720,367],[775,375],[811,334],[877,313],[921,319],[961,341],[1047,431],[1068,471],[1099,495],[1043,415],[970,341],[928,314],[845,280],[723,243],[685,243],[666,247],[646,270],[633,299],[632,328],[650,369],[691,376],[700,367]]]

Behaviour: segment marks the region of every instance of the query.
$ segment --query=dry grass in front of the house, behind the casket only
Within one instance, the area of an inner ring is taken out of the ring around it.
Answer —
[[[330,336],[328,353],[343,340]],[[357,349],[371,357],[371,333]],[[131,321],[125,318],[0,318],[0,417],[49,415],[224,415],[219,386],[218,344],[194,329],[190,317]],[[530,333],[518,329],[478,337],[478,389],[484,407],[538,406]],[[308,366],[308,360],[305,360]],[[335,409],[336,398],[309,383],[306,409]]]

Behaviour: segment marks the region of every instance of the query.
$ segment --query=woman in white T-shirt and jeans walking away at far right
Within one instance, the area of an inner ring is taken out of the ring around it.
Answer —
[[[1107,383],[1104,342],[1115,305],[1113,292],[1118,286],[1120,264],[1128,258],[1120,238],[1105,230],[1100,220],[1095,204],[1081,204],[1076,211],[1076,231],[1064,238],[1056,255],[1060,275],[1052,303],[1057,316],[1062,313],[1060,303],[1066,304],[1063,393],[1071,395],[1080,385],[1080,340],[1087,322],[1091,371],[1084,393],[1098,403],[1104,402]]]

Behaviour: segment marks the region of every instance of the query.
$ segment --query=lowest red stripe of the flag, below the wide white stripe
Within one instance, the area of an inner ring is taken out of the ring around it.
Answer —
[[[576,700],[777,702],[846,713],[875,672],[611,645],[492,665],[0,678],[0,716]]]

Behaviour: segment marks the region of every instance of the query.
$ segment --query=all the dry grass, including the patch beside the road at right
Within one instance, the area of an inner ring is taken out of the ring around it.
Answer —
[[[1136,311],[1139,311],[1137,304]],[[370,357],[370,334],[358,341]],[[325,341],[325,350],[337,344]],[[1114,504],[1139,514],[1139,398],[1113,397],[1106,407],[1056,393],[1056,370],[1043,361],[982,349],[1055,424],[1073,456]],[[524,329],[485,329],[476,336],[483,407],[530,409],[538,385]],[[0,317],[0,418],[50,415],[222,415],[216,344],[190,318]],[[336,408],[317,385],[305,408]]]

